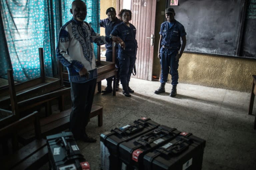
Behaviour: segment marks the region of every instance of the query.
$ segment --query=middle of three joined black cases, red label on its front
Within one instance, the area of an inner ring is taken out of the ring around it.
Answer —
[[[134,170],[143,168],[143,156],[159,146],[166,144],[180,134],[176,128],[159,126],[132,140],[119,145],[121,170]],[[158,169],[155,169],[158,170]]]

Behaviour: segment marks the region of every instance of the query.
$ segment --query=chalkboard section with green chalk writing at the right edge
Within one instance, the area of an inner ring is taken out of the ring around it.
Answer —
[[[256,58],[256,0],[247,5],[241,55]]]

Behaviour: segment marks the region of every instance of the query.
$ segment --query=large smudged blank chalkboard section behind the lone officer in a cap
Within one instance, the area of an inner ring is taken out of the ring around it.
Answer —
[[[236,56],[245,0],[179,0],[175,19],[187,33],[185,51]]]

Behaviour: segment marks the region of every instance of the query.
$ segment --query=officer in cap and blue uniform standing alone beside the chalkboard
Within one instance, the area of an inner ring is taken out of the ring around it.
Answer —
[[[165,18],[167,21],[161,24],[158,46],[158,58],[160,59],[161,65],[161,85],[159,89],[155,91],[155,94],[165,93],[165,83],[167,82],[167,77],[170,73],[172,76],[171,97],[177,95],[176,87],[179,78],[179,59],[186,46],[186,32],[184,26],[176,21],[174,16],[175,12],[173,8],[167,8],[165,10]],[[180,38],[182,40],[182,45]]]

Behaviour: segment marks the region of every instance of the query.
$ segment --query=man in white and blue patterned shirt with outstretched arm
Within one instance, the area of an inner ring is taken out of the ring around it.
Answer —
[[[73,1],[70,12],[73,18],[61,27],[56,48],[57,58],[67,67],[69,73],[72,100],[70,131],[76,140],[95,142],[96,139],[89,137],[85,132],[97,80],[93,42],[102,45],[114,41],[124,47],[125,45],[118,37],[100,36],[88,23],[83,22],[87,14],[83,1]]]

